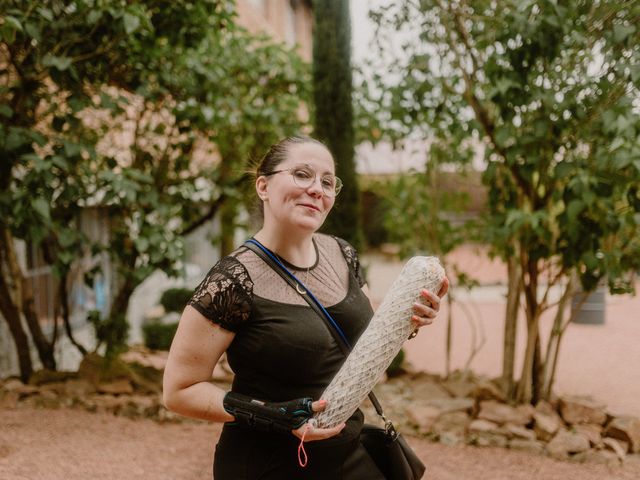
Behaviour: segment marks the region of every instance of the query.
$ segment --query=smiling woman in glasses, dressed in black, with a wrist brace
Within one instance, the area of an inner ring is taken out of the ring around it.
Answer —
[[[355,250],[318,234],[342,182],[329,150],[291,137],[273,145],[257,169],[264,222],[254,238],[327,308],[351,344],[373,315]],[[437,315],[440,296],[421,292],[416,327]],[[209,383],[221,355],[235,377],[230,392]],[[344,361],[322,319],[271,267],[246,247],[222,258],[185,308],[164,375],[164,402],[182,415],[225,422],[214,478],[382,478],[360,446],[363,415],[314,428],[319,399]],[[298,465],[304,438],[309,463]]]

